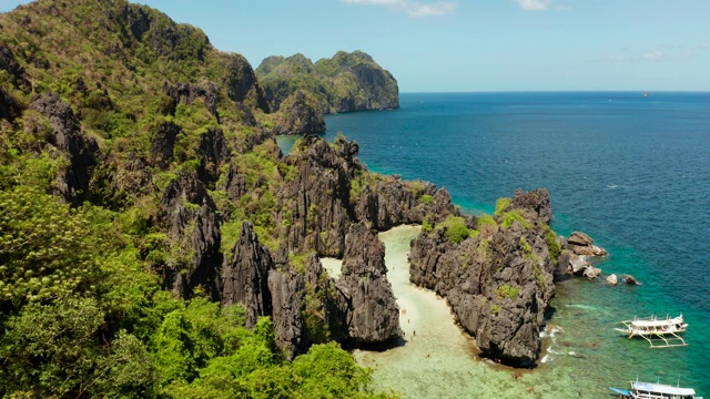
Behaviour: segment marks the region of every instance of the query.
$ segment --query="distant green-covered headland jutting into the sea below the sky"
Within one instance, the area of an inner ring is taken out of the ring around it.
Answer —
[[[362,51],[339,51],[315,64],[303,54],[270,57],[256,74],[273,110],[296,90],[311,92],[325,113],[399,108],[397,81]]]

